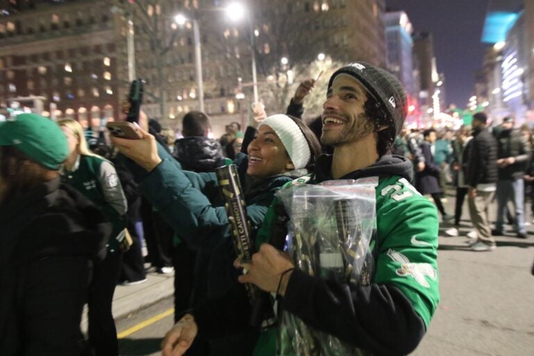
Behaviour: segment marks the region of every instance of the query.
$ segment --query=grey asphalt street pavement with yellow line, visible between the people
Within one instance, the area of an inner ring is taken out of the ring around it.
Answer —
[[[444,203],[453,212],[454,197]],[[495,206],[490,217],[495,216]],[[528,214],[530,216],[530,214]],[[528,220],[531,220],[528,217]],[[464,205],[460,236],[446,237],[452,225],[440,225],[439,280],[441,301],[414,356],[534,355],[534,225],[528,238],[498,236],[492,252],[472,252],[465,235],[471,231]],[[115,317],[118,332],[172,307],[172,278],[150,275],[139,286],[118,286]],[[152,291],[152,285],[157,291]],[[159,301],[159,302],[158,302]],[[143,307],[144,305],[144,307]],[[152,305],[151,307],[146,307]],[[121,355],[160,355],[159,342],[172,325],[161,318],[120,340]]]

